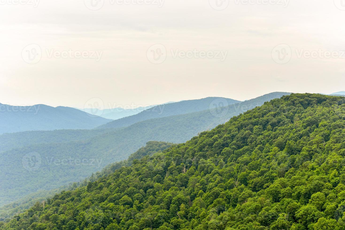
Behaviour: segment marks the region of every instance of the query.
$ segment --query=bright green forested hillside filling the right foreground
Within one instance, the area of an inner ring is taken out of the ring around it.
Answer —
[[[345,98],[292,94],[57,194],[0,229],[345,228]]]

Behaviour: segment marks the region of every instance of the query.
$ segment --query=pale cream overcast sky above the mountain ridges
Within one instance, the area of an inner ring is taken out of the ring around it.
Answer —
[[[344,19],[345,0],[0,0],[0,102],[343,91]]]

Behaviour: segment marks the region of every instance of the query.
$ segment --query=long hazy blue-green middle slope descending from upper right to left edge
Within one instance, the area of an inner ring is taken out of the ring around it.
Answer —
[[[91,139],[57,143],[56,136],[52,136],[53,143],[0,152],[3,159],[0,161],[0,205],[37,190],[56,189],[83,180],[111,162],[127,159],[148,141],[185,142],[199,132],[213,129],[233,116],[286,94],[275,92],[228,107],[150,119],[117,131],[106,130],[108,132]],[[23,138],[31,139],[24,135]],[[32,164],[33,168],[24,167],[23,162],[25,166]]]

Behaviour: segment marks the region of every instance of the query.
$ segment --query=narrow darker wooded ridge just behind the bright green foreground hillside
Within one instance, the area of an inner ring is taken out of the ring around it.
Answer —
[[[167,142],[149,141],[146,143],[145,147],[142,147],[135,153],[132,153],[127,160],[111,163],[107,167],[103,168],[101,171],[92,173],[92,176],[85,180],[82,180],[80,182],[74,182],[72,184],[67,184],[57,189],[39,190],[37,192],[29,194],[28,196],[23,197],[20,200],[17,200],[16,202],[9,203],[5,206],[0,207],[0,221],[6,218],[13,217],[16,213],[20,213],[23,210],[30,208],[31,206],[40,205],[37,204],[37,202],[40,203],[42,202],[42,200],[47,200],[56,193],[61,192],[62,190],[72,190],[79,186],[86,186],[88,182],[93,182],[101,178],[102,176],[106,176],[114,172],[116,169],[119,169],[123,166],[130,166],[133,160],[135,159],[140,159],[147,155],[151,156],[153,153],[161,152],[167,148],[170,148],[171,146],[175,145]]]

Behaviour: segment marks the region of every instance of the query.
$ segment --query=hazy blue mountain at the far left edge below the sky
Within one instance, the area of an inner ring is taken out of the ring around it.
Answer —
[[[93,129],[110,121],[70,107],[0,104],[0,134],[32,130]]]

